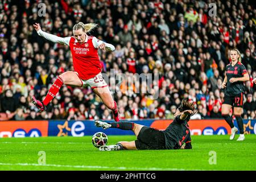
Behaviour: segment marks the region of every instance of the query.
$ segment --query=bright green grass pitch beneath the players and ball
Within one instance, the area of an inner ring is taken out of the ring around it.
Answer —
[[[135,139],[108,137],[108,144]],[[99,151],[91,137],[0,138],[0,170],[256,170],[256,135],[237,138],[192,136],[192,150],[151,151]]]

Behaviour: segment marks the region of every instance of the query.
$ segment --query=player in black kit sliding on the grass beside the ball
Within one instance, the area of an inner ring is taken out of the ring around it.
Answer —
[[[174,121],[163,131],[133,122],[106,123],[95,121],[94,123],[97,127],[102,127],[103,129],[117,128],[121,130],[132,130],[137,137],[137,140],[131,142],[118,142],[115,145],[101,146],[99,149],[101,151],[191,149],[188,121],[195,113],[196,104],[184,99],[176,110]]]

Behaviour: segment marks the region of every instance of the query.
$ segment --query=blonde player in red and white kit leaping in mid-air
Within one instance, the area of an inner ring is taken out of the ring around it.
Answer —
[[[35,23],[33,26],[38,35],[51,42],[69,46],[74,67],[74,71],[67,71],[57,77],[42,102],[32,97],[32,102],[38,107],[39,111],[46,109],[46,106],[56,96],[63,84],[79,87],[89,85],[93,92],[101,98],[102,102],[113,111],[115,121],[119,121],[117,103],[113,100],[109,87],[102,78],[101,63],[98,57],[98,48],[114,51],[115,47],[112,44],[102,42],[94,36],[86,34],[95,28],[97,24],[79,22],[73,27],[73,36],[66,38],[60,38],[59,36],[42,31],[38,23]]]

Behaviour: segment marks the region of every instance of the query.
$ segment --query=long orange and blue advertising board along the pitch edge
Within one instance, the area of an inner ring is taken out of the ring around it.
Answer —
[[[144,126],[164,130],[172,120],[170,119],[145,119],[126,120]],[[107,121],[113,122],[113,121]],[[191,135],[226,135],[230,134],[230,127],[224,119],[195,119],[189,121]],[[236,120],[234,125],[237,126]],[[256,134],[256,119],[243,120],[245,134]],[[3,137],[47,137],[47,136],[92,136],[97,132],[104,132],[107,135],[133,135],[133,131],[108,129],[94,126],[92,120],[84,121],[0,121],[0,138]]]

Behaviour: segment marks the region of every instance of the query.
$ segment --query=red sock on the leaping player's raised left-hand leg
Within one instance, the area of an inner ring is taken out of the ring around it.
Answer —
[[[63,85],[63,80],[58,76],[56,81],[52,84],[51,88],[49,89],[46,98],[44,98],[43,104],[47,106],[51,100],[56,96],[59,92],[61,86]]]

